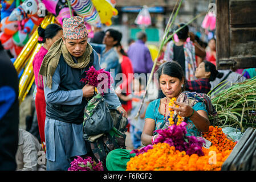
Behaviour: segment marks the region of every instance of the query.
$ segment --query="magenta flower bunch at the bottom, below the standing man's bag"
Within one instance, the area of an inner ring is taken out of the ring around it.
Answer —
[[[103,164],[101,162],[96,163],[90,156],[85,159],[80,156],[76,156],[77,159],[74,159],[71,162],[71,167],[68,168],[68,171],[103,171]]]

